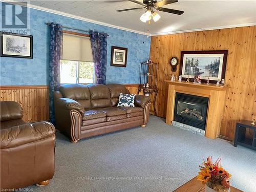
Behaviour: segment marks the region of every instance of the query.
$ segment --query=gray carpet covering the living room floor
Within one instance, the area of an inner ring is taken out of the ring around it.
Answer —
[[[142,129],[124,130],[72,144],[56,133],[55,175],[33,191],[172,191],[197,175],[202,157],[222,157],[231,185],[256,191],[256,152],[210,140],[151,116]]]

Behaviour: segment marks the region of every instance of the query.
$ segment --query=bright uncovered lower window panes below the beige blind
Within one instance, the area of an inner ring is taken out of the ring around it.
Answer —
[[[94,62],[61,60],[60,83],[93,83]]]

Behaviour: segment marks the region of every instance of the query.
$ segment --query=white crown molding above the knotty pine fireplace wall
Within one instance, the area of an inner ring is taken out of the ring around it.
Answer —
[[[208,31],[208,30],[217,30],[217,29],[227,29],[227,28],[236,28],[236,27],[247,27],[247,26],[256,26],[256,22],[237,24],[237,25],[218,26],[218,27],[188,29],[188,30],[172,31],[172,32],[165,32],[165,33],[152,33],[151,36],[170,35],[170,34],[177,34],[177,33],[188,33],[188,32],[196,32],[196,31]]]

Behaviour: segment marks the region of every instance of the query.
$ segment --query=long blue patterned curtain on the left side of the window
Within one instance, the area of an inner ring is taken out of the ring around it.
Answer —
[[[50,122],[55,123],[53,92],[60,84],[60,60],[62,59],[62,26],[50,25],[50,63],[49,63],[49,116]]]

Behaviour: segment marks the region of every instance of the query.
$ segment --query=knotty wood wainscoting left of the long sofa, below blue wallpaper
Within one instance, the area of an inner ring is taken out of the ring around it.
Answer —
[[[48,86],[1,86],[1,101],[22,105],[26,122],[49,119]]]

